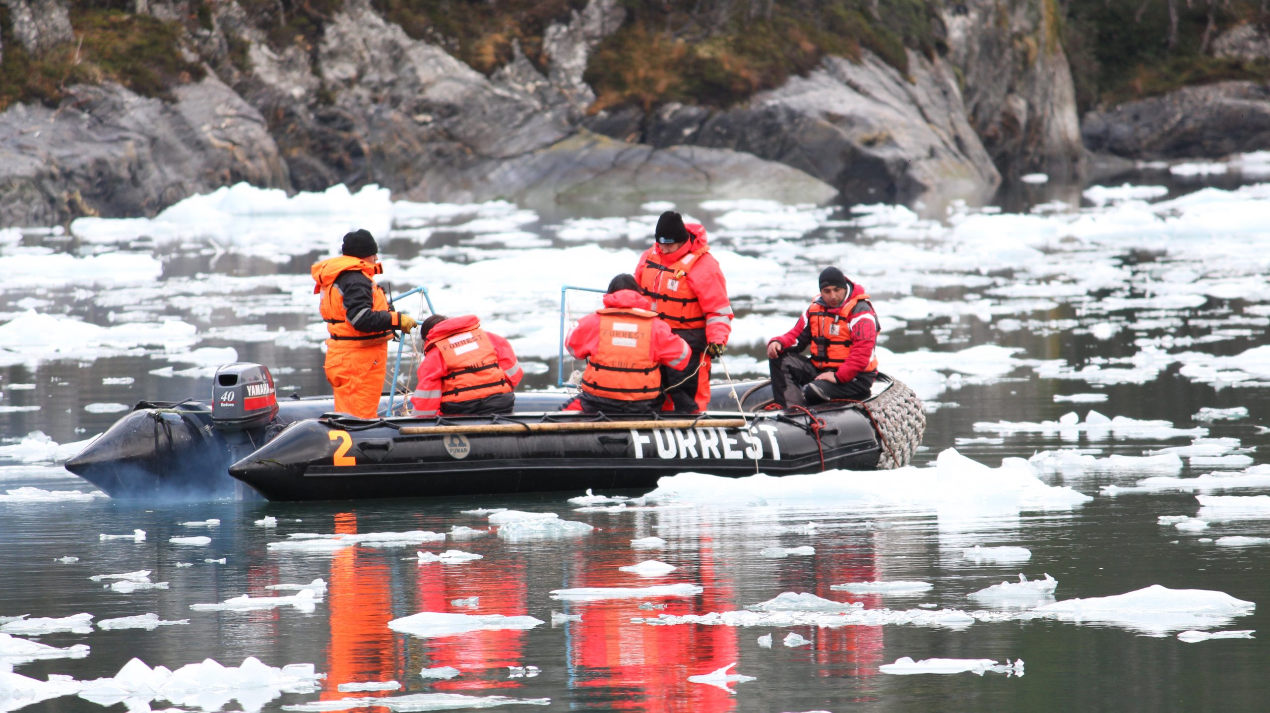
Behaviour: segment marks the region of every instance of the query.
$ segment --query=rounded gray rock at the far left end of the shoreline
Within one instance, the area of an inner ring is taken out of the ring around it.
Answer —
[[[213,76],[174,103],[105,84],[74,86],[58,109],[0,114],[0,216],[47,226],[69,217],[154,216],[194,193],[250,181],[286,186],[259,112]]]

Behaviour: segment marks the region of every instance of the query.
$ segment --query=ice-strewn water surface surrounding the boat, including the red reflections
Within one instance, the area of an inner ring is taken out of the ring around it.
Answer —
[[[324,393],[309,265],[353,227],[551,387],[561,284],[630,270],[669,203],[240,185],[0,231],[0,710],[1264,710],[1270,184],[1173,169],[678,206],[728,275],[733,377],[837,264],[928,426],[900,471],[650,492],[155,505],[57,463],[235,359]]]

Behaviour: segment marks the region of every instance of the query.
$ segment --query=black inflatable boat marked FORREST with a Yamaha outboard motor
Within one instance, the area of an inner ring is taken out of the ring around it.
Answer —
[[[568,392],[517,393],[508,416],[376,420],[325,398],[274,398],[257,364],[222,367],[212,401],[141,402],[66,468],[112,497],[354,500],[645,488],[696,471],[740,477],[909,462],[926,416],[880,377],[864,403],[766,410],[766,382],[715,384],[700,415],[559,411]],[[738,409],[738,401],[740,409]],[[381,409],[387,412],[387,397]]]

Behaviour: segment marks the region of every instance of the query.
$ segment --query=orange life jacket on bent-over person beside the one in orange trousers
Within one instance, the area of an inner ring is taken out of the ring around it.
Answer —
[[[498,365],[498,353],[475,315],[453,317],[432,327],[428,349],[438,349],[446,363],[441,377],[441,402],[471,401],[497,393],[511,393],[512,382]]]

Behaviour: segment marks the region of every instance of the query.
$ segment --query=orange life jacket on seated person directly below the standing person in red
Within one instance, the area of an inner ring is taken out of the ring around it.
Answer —
[[[599,344],[587,360],[582,391],[617,401],[646,401],[662,392],[653,360],[653,318],[648,310],[610,307],[599,315]]]

